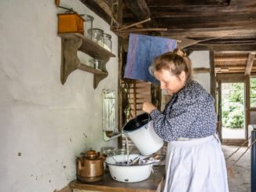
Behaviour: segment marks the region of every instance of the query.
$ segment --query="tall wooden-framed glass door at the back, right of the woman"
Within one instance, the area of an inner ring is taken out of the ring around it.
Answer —
[[[240,145],[247,139],[247,84],[243,74],[218,74],[217,114],[221,143]]]

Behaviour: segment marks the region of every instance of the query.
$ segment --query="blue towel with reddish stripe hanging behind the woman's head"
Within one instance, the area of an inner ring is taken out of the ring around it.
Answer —
[[[174,39],[130,34],[124,78],[158,83],[148,67],[156,56],[171,52],[176,46]]]

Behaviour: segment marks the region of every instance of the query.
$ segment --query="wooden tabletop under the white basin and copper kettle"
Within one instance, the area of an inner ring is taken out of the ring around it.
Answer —
[[[106,191],[106,192],[159,192],[163,187],[165,166],[154,166],[154,172],[148,179],[137,183],[122,183],[115,181],[108,171],[104,172],[101,181],[82,183],[78,180],[71,182],[73,192]]]

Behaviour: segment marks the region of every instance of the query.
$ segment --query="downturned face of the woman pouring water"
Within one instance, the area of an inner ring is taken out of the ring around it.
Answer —
[[[178,77],[171,74],[170,71],[162,69],[154,72],[155,78],[159,80],[161,89],[166,90],[170,95],[181,90],[185,85],[186,75],[185,71],[182,71]]]

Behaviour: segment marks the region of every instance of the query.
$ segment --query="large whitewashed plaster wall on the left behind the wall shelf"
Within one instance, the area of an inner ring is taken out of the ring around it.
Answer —
[[[108,78],[93,89],[93,74],[76,70],[60,83],[60,37],[53,0],[0,1],[0,191],[49,192],[75,179],[75,156],[103,146],[101,91],[115,89],[118,40],[79,0],[60,1],[94,16],[112,34]]]

